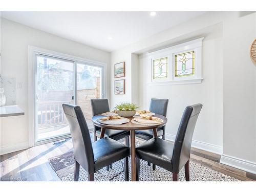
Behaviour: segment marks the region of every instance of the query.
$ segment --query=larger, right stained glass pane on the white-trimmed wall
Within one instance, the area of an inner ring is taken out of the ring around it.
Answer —
[[[195,75],[195,51],[175,55],[175,77]]]

